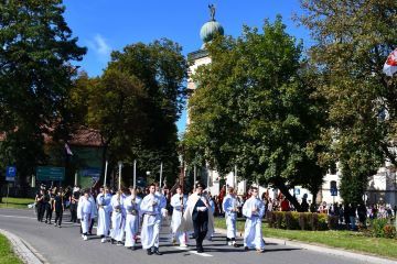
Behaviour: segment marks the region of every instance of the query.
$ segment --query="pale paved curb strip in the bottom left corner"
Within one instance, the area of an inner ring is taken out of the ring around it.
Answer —
[[[44,260],[40,253],[34,250],[28,242],[20,239],[13,233],[10,233],[6,230],[0,229],[0,233],[3,234],[12,244],[12,249],[15,254],[26,264],[45,264],[49,263]]]

